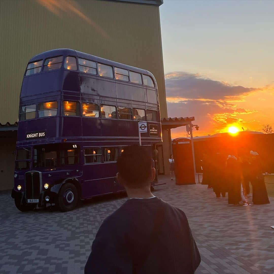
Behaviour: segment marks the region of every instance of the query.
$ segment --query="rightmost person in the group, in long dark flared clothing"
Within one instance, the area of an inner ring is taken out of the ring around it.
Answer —
[[[250,155],[250,180],[253,194],[252,202],[257,205],[269,204],[270,202],[267,196],[264,176],[262,175],[262,164],[259,154],[251,150]]]

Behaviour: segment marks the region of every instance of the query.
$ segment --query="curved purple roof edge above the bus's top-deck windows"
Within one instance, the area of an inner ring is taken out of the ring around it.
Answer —
[[[48,50],[46,52],[39,53],[39,54],[33,56],[30,59],[29,62],[34,62],[34,61],[37,61],[37,60],[40,60],[40,59],[46,59],[46,58],[50,58],[50,57],[54,57],[54,56],[58,56],[58,55],[77,56],[79,58],[89,59],[89,60],[92,60],[92,61],[95,61],[95,62],[110,65],[110,66],[113,66],[113,67],[124,68],[124,69],[127,69],[127,70],[131,70],[133,72],[147,74],[147,75],[151,76],[153,78],[154,82],[156,83],[156,79],[155,79],[154,75],[151,72],[149,72],[148,70],[144,70],[142,68],[136,68],[136,67],[133,67],[133,66],[130,66],[130,65],[125,65],[125,64],[118,63],[118,62],[115,62],[115,61],[111,61],[111,60],[108,60],[108,59],[104,59],[104,58],[101,58],[101,57],[98,57],[98,56],[95,56],[95,55],[87,54],[87,53],[84,53],[84,52],[79,52],[77,50],[72,50],[70,48],[57,48],[57,49],[54,49],[54,50]]]

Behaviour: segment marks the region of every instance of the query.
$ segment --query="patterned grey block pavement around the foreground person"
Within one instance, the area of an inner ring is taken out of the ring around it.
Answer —
[[[230,206],[206,185],[166,185],[154,195],[184,210],[201,253],[196,274],[274,273],[274,198],[270,204]],[[10,192],[0,192],[0,273],[83,273],[102,221],[126,200],[111,195],[72,212],[19,212]]]

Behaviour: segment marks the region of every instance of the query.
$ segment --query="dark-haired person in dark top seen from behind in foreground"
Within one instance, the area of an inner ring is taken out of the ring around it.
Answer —
[[[201,259],[184,212],[150,192],[152,156],[126,147],[117,164],[129,199],[99,228],[85,274],[194,273]]]

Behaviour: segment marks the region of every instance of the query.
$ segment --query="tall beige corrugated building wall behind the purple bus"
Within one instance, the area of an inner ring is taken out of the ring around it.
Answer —
[[[167,117],[157,6],[101,0],[2,0],[0,34],[1,124],[17,121],[28,60],[54,48],[73,48],[149,70],[157,80],[161,117]],[[164,147],[167,156],[169,149]]]

